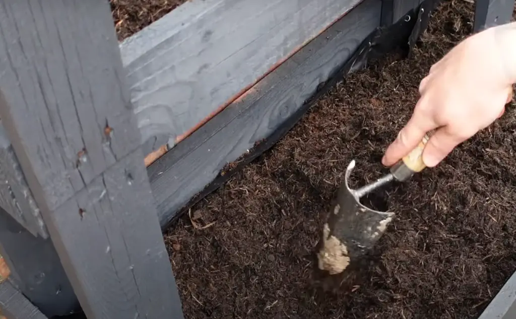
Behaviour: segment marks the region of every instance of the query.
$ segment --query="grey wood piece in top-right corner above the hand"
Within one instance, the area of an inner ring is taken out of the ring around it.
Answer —
[[[510,22],[513,10],[514,0],[476,0],[473,31]]]

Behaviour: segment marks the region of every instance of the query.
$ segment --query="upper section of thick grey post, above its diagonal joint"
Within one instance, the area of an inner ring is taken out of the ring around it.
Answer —
[[[104,6],[77,3],[0,2],[0,88],[15,106],[2,119],[11,134],[23,123],[19,145],[9,138],[22,167],[34,167],[23,170],[26,178],[50,181],[41,184],[49,209],[140,143],[138,131],[124,128],[136,122],[120,85],[125,72],[112,64],[119,52],[105,45],[116,41],[112,19],[91,22],[90,15],[106,15]],[[22,145],[34,147],[22,153]]]

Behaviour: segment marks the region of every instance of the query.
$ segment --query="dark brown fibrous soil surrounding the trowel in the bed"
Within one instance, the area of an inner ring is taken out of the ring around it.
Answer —
[[[186,318],[479,315],[516,271],[513,107],[438,167],[372,200],[397,216],[366,267],[336,281],[314,271],[347,164],[357,160],[354,186],[386,173],[381,157],[408,121],[419,82],[471,32],[472,19],[472,4],[444,2],[410,58],[393,55],[346,77],[170,229]]]

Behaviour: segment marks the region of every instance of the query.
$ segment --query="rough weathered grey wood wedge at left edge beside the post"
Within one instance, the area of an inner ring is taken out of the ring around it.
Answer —
[[[0,120],[0,207],[34,236],[48,238],[41,212]]]

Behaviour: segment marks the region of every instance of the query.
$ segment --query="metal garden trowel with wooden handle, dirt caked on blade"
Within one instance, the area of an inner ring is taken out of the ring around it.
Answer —
[[[406,181],[425,169],[422,154],[432,133],[433,130],[428,132],[412,152],[394,164],[389,174],[360,189],[352,190],[348,186],[355,161],[349,163],[344,182],[322,229],[317,253],[320,270],[330,275],[340,274],[375,246],[392,221],[394,212],[367,208],[360,203],[360,198],[392,181]]]

